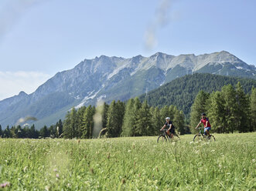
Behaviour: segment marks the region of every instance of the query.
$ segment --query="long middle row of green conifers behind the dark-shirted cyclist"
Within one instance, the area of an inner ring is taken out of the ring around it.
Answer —
[[[138,98],[128,102],[112,101],[102,106],[82,106],[71,109],[63,122],[63,137],[90,139],[99,136],[104,130],[106,137],[118,136],[156,136],[163,126],[165,118],[172,119],[177,131],[186,132],[184,115],[176,106],[150,107]],[[100,120],[100,122],[98,122]],[[96,126],[96,124],[100,126]]]

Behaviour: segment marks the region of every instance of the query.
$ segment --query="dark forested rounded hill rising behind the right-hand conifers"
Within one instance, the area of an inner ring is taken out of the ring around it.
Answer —
[[[142,101],[146,99],[150,106],[175,105],[188,116],[193,100],[200,90],[213,92],[220,90],[227,84],[236,85],[237,82],[241,82],[246,93],[251,92],[252,86],[256,87],[256,80],[254,79],[195,73],[162,85],[159,89],[141,95],[139,99]]]

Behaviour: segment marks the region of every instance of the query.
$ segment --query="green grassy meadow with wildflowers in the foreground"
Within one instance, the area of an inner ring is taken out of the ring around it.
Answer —
[[[255,190],[256,133],[215,137],[0,139],[0,183],[10,183],[6,190]]]

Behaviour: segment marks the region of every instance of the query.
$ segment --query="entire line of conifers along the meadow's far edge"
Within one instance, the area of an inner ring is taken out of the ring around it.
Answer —
[[[246,93],[246,92],[251,92]],[[104,102],[99,106],[82,106],[70,109],[62,122],[43,126],[37,130],[34,125],[12,126],[2,130],[3,138],[66,138],[90,139],[104,135],[156,136],[169,116],[180,134],[195,133],[201,113],[207,112],[213,132],[252,132],[256,131],[256,88],[244,91],[240,82],[237,85],[224,85],[220,91],[201,90],[193,100],[189,119],[176,106],[149,106],[147,100],[128,99],[127,102]]]

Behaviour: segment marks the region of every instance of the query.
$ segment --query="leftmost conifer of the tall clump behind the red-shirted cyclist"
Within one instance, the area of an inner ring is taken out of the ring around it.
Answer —
[[[196,98],[191,106],[190,112],[190,130],[191,132],[195,132],[195,127],[200,122],[201,114],[206,112],[207,107],[207,99],[209,99],[209,93],[200,91],[196,95]]]

